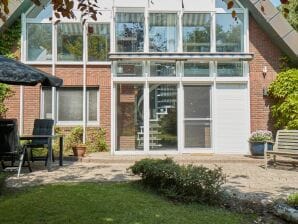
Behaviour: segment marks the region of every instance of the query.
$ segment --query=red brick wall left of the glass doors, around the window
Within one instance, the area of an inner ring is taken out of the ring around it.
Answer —
[[[49,74],[52,67],[47,65],[35,66]],[[100,88],[100,126],[107,131],[107,143],[110,146],[111,136],[111,70],[110,66],[87,66],[87,86]],[[56,75],[63,79],[64,86],[83,85],[82,65],[57,65]],[[13,87],[15,94],[7,100],[7,118],[17,118],[19,120],[20,111],[20,87]],[[34,119],[40,117],[40,85],[24,88],[24,133],[32,133]]]

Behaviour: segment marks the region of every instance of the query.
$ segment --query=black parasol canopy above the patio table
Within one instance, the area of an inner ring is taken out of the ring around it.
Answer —
[[[0,83],[10,85],[62,86],[63,80],[21,62],[0,56]]]

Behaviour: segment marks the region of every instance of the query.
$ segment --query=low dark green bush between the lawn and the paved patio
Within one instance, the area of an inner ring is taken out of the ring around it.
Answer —
[[[220,167],[180,166],[172,159],[143,159],[130,167],[145,186],[172,200],[215,204],[221,195],[225,175]]]

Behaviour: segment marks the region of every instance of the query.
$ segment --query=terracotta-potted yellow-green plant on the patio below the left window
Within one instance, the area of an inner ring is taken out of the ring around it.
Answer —
[[[74,156],[83,157],[86,153],[86,145],[83,144],[83,128],[81,126],[75,127],[70,131],[68,139]]]

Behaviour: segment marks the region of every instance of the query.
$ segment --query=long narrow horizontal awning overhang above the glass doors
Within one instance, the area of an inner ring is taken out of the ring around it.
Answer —
[[[167,53],[167,52],[150,52],[150,53],[110,53],[109,58],[112,61],[118,60],[174,60],[174,61],[251,61],[252,53]]]

